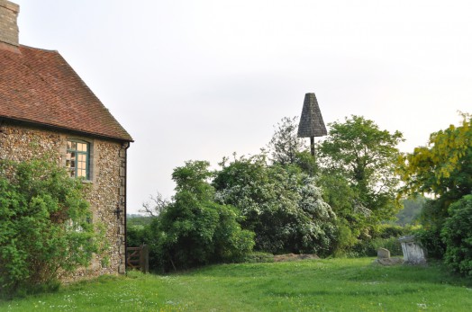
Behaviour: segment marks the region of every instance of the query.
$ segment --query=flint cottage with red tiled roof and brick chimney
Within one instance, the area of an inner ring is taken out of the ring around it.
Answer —
[[[106,227],[98,256],[73,278],[125,271],[126,153],[132,137],[58,51],[19,44],[19,6],[0,0],[0,159],[48,155],[91,184],[93,221]]]

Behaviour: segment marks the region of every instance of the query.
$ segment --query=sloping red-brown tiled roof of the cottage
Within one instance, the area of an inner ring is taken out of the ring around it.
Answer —
[[[0,118],[132,141],[58,51],[0,49]]]

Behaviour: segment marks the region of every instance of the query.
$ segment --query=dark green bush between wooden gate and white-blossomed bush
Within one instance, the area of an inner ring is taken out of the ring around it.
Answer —
[[[253,233],[241,230],[238,210],[213,201],[208,166],[187,162],[172,174],[174,201],[150,226],[151,257],[162,270],[237,261],[252,250]]]

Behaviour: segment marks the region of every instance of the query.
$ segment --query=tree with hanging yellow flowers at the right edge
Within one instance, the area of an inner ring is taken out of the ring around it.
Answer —
[[[461,115],[458,127],[450,125],[448,129],[431,133],[427,146],[416,147],[413,153],[401,158],[399,172],[405,183],[404,194],[435,195],[422,209],[423,228],[418,236],[429,254],[437,257],[442,257],[452,243],[440,237],[446,220],[453,217],[449,207],[472,192],[472,117],[467,113]],[[455,213],[463,216],[462,212]],[[448,223],[448,227],[452,225]]]

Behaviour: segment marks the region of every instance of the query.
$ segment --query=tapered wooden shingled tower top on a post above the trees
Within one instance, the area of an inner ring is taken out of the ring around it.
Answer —
[[[298,124],[298,138],[310,138],[310,147],[314,156],[314,137],[322,137],[327,133],[316,96],[304,94],[304,108]]]

